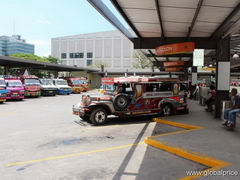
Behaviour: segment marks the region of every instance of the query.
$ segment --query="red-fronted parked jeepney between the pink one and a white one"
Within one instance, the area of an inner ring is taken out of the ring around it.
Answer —
[[[39,97],[41,95],[40,81],[37,76],[21,76],[25,97]]]

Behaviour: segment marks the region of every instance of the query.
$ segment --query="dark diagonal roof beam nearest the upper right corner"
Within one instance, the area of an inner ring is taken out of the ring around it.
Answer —
[[[233,11],[224,19],[224,21],[218,26],[218,28],[212,33],[211,38],[221,38],[228,32],[231,27],[240,18],[240,3],[233,9]]]

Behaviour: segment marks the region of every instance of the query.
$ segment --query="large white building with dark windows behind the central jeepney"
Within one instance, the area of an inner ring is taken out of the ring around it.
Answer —
[[[64,65],[100,68],[108,72],[139,71],[133,44],[119,31],[105,31],[52,39],[52,56]],[[148,70],[144,70],[148,71]]]

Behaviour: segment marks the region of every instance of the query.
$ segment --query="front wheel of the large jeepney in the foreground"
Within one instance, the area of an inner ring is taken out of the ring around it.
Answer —
[[[107,111],[103,108],[97,108],[94,111],[92,111],[90,115],[90,121],[93,125],[98,126],[106,123],[107,121]]]

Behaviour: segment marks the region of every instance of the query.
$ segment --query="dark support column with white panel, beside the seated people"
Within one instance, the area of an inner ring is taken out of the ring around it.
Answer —
[[[220,39],[217,44],[215,118],[221,117],[222,101],[229,99],[230,88],[230,37]]]

